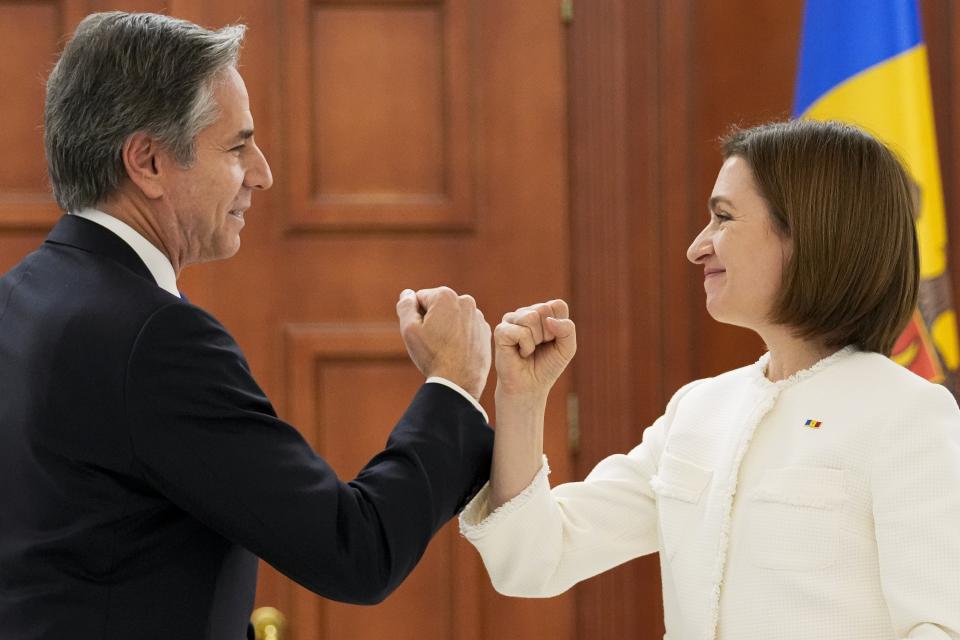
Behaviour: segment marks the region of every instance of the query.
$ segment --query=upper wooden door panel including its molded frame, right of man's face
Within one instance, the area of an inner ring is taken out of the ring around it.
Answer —
[[[467,225],[474,213],[469,3],[283,7],[291,227]]]

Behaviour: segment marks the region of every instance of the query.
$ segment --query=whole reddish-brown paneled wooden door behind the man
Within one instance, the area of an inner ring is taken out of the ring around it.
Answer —
[[[0,0],[0,271],[59,216],[45,185],[42,79],[83,15],[114,8],[250,27],[240,71],[274,187],[255,194],[240,253],[188,269],[181,286],[341,475],[383,446],[422,381],[397,333],[403,288],[469,292],[494,323],[568,296],[557,0]],[[561,481],[569,388],[563,380],[548,410]],[[492,391],[491,380],[491,415]],[[251,473],[269,473],[268,461]],[[266,566],[257,603],[283,611],[296,640],[564,639],[572,598],[497,596],[453,523],[382,605],[327,602]]]

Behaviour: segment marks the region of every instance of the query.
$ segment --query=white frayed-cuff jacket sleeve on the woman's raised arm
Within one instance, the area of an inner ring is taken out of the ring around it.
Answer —
[[[626,455],[601,461],[583,482],[550,489],[543,467],[518,496],[493,513],[485,486],[460,516],[460,531],[477,548],[493,587],[521,597],[550,597],[577,582],[659,548],[657,473],[681,389],[666,413]]]

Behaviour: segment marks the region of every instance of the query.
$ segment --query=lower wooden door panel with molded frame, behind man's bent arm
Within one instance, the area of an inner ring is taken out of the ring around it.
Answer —
[[[287,330],[290,418],[342,478],[380,451],[422,384],[393,325],[300,325]],[[455,531],[445,529],[414,573],[371,609],[295,588],[298,638],[449,638]],[[429,620],[411,625],[410,620]]]

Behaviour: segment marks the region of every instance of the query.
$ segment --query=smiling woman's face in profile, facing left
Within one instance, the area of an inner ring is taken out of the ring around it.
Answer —
[[[687,249],[690,262],[703,266],[707,311],[753,330],[769,325],[790,242],[774,227],[746,160],[723,163],[709,208],[710,222]]]

